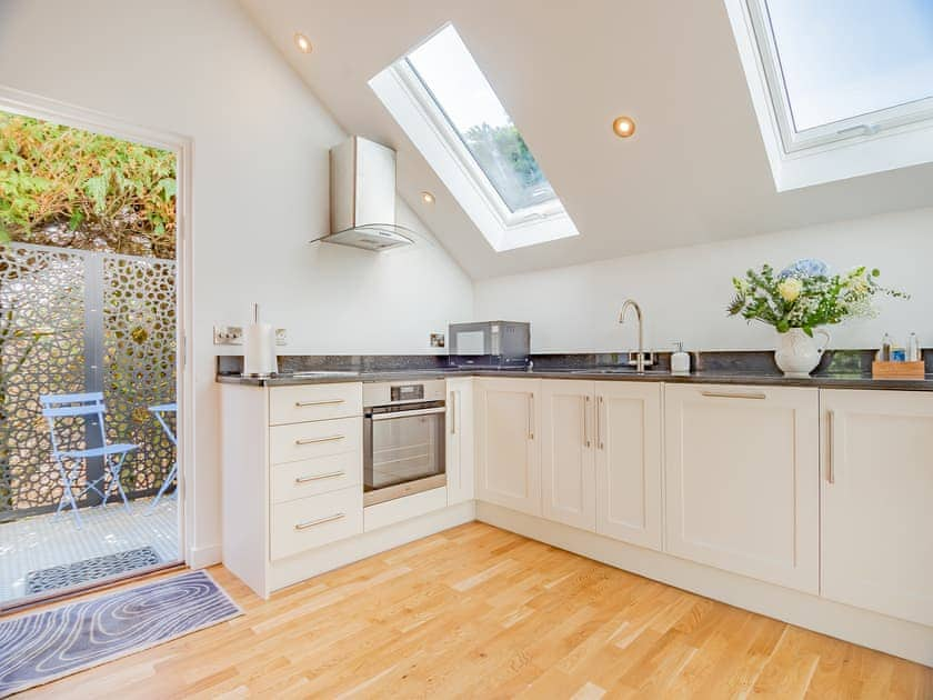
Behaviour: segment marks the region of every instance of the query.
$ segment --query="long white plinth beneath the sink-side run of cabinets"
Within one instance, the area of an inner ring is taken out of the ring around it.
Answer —
[[[933,628],[625,544],[491,503],[476,503],[476,519],[736,608],[933,666]]]

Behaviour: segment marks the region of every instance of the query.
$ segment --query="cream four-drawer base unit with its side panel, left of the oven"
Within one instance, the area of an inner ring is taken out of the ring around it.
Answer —
[[[222,392],[223,563],[268,597],[297,557],[363,532],[362,384]]]

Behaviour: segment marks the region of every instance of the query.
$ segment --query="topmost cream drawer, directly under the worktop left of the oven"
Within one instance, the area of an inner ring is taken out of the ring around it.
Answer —
[[[272,426],[363,414],[363,386],[360,382],[273,387],[270,393],[269,422]]]

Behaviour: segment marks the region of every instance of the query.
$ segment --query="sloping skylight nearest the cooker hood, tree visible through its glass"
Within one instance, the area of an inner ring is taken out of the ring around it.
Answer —
[[[452,24],[370,81],[495,250],[576,229]]]

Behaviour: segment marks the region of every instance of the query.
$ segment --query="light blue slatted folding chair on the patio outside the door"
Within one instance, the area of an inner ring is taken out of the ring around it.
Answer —
[[[62,489],[64,490],[58,508],[56,509],[56,514],[59,514],[62,509],[71,506],[78,529],[81,529],[81,516],[78,513],[78,503],[74,498],[74,484],[80,476],[81,467],[86,466],[88,458],[91,457],[100,457],[103,459],[103,474],[98,479],[90,481],[90,478],[87,477],[88,486],[78,494],[78,498],[80,499],[89,491],[93,491],[103,499],[101,506],[107,506],[110,494],[117,490],[123,499],[123,506],[129,512],[130,501],[127,498],[126,491],[123,491],[123,486],[120,483],[120,470],[123,469],[123,462],[127,459],[127,454],[138,449],[139,446],[129,443],[107,443],[107,429],[103,424],[103,414],[107,412],[107,408],[103,404],[103,394],[100,392],[44,394],[39,397],[39,402],[42,406],[42,416],[44,416],[49,421],[49,431],[52,437],[52,457],[58,464],[59,473],[61,474]],[[78,417],[87,418],[91,416],[97,417],[97,424],[100,427],[100,443],[102,447],[90,448],[87,450],[62,449],[62,447],[59,446],[56,432],[56,419]],[[110,477],[110,481],[107,483],[104,490],[101,490],[99,484],[106,481],[108,477]]]

